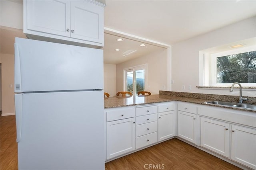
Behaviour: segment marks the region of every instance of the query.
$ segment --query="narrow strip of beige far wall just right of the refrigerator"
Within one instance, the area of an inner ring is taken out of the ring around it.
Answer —
[[[104,92],[116,96],[116,64],[104,64]]]

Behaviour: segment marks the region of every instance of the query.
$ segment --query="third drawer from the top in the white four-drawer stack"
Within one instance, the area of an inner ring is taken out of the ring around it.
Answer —
[[[136,126],[136,137],[153,133],[157,131],[157,121],[144,123]]]

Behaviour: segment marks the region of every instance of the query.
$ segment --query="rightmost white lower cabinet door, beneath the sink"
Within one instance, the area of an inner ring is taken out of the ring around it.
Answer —
[[[256,129],[232,125],[231,159],[256,169]]]

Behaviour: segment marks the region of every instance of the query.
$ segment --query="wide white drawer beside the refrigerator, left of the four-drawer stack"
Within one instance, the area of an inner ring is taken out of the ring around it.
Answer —
[[[107,111],[106,115],[107,115],[107,121],[114,121],[114,120],[135,117],[135,108],[111,110],[111,111]]]

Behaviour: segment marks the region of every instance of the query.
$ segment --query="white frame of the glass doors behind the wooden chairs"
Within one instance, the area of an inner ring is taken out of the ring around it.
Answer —
[[[133,90],[133,95],[137,95],[137,94],[134,94],[135,92],[135,84],[136,84],[136,80],[135,80],[135,71],[136,70],[142,70],[144,69],[144,90],[146,91],[147,90],[147,84],[148,84],[148,64],[141,64],[141,65],[138,65],[138,66],[133,66],[133,67],[128,67],[128,68],[124,68],[124,91],[126,91],[126,80],[127,80],[127,77],[126,77],[126,72],[128,71],[131,71],[133,72],[133,87],[132,87],[132,90]]]

